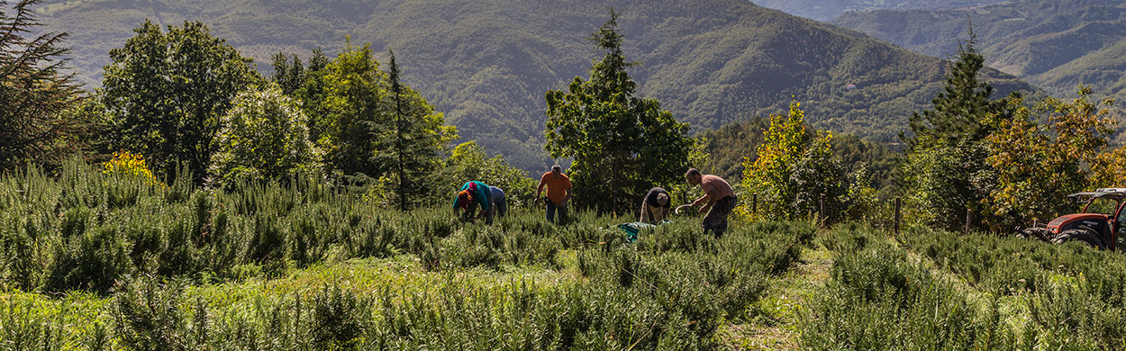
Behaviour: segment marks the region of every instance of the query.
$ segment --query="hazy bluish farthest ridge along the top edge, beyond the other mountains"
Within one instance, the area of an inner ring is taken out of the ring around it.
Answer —
[[[820,21],[830,21],[848,11],[957,9],[1003,0],[751,0],[756,4]]]

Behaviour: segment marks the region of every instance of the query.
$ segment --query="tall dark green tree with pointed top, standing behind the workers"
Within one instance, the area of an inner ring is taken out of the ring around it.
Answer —
[[[655,99],[636,97],[637,84],[626,71],[618,14],[591,40],[606,54],[575,76],[566,91],[549,90],[545,148],[553,158],[573,160],[569,171],[580,202],[600,210],[633,209],[653,184],[671,184],[688,166],[692,140],[688,124],[662,110]]]

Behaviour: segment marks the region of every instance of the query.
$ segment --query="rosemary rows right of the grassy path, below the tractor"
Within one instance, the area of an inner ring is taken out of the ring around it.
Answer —
[[[1119,350],[1126,346],[1117,253],[989,235],[841,226],[807,306],[810,349]]]

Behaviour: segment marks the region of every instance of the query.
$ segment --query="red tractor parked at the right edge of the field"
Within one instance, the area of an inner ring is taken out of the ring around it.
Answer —
[[[1048,222],[1047,227],[1030,227],[1018,232],[1021,237],[1035,237],[1051,243],[1080,241],[1098,249],[1116,250],[1119,234],[1126,234],[1123,207],[1126,188],[1105,188],[1067,196],[1085,202],[1083,212],[1063,215]],[[1085,200],[1084,200],[1085,199]]]

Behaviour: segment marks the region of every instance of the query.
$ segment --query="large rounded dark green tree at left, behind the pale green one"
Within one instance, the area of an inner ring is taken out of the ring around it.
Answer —
[[[145,21],[109,52],[101,102],[118,148],[144,154],[157,170],[187,162],[203,181],[220,118],[235,94],[262,82],[253,61],[198,21],[160,26]]]

